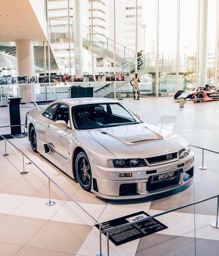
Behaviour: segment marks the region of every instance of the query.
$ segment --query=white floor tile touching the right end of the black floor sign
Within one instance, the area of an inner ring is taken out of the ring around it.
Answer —
[[[162,211],[150,210],[149,215],[155,215]],[[155,218],[168,228],[157,232],[158,234],[172,236],[195,237],[194,214],[172,212]]]

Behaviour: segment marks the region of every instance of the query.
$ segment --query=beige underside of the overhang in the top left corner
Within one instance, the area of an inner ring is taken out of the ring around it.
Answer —
[[[41,27],[42,19],[44,25],[46,21],[41,9],[39,16],[39,10],[34,10],[29,0],[0,0],[0,42],[17,39],[47,41],[45,26]]]

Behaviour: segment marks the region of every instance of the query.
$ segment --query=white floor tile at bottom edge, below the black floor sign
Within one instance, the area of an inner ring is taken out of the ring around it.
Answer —
[[[102,253],[107,255],[107,239],[106,236],[102,234]],[[109,241],[109,255],[110,256],[135,256],[138,248],[138,243],[140,239],[115,246],[111,241]],[[93,227],[84,240],[83,244],[77,251],[79,255],[94,256],[100,253],[99,251],[99,230]]]

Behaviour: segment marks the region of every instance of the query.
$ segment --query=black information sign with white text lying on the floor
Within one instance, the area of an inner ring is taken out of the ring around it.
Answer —
[[[150,215],[148,215],[144,211],[141,211],[121,218],[106,221],[102,223],[102,230],[116,227],[125,223],[133,222],[149,216]],[[95,226],[99,229],[98,224]],[[152,218],[149,220],[144,220],[136,224],[131,224],[129,226],[110,231],[109,240],[113,242],[116,246],[118,246],[167,228],[167,226],[165,226],[158,220]],[[104,235],[106,235],[106,233],[104,233]]]

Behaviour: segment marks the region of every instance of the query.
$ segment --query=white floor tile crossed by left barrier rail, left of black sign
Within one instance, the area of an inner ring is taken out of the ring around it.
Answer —
[[[99,218],[100,214],[105,208],[105,205],[79,203],[85,208],[91,215],[96,219]],[[54,221],[70,222],[76,224],[94,225],[95,221],[87,215],[79,206],[74,202],[66,202],[61,209],[51,218]]]

